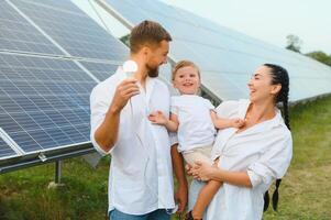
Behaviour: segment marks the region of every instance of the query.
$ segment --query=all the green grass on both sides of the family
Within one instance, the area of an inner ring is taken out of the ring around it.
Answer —
[[[280,187],[278,212],[265,220],[331,219],[331,97],[291,108],[294,158]],[[47,189],[54,164],[0,175],[1,220],[107,219],[109,158],[97,169],[66,160],[64,187]]]

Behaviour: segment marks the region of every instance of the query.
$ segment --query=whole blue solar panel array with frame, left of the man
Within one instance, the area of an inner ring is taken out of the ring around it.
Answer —
[[[0,173],[91,153],[91,89],[128,54],[71,1],[1,1]]]

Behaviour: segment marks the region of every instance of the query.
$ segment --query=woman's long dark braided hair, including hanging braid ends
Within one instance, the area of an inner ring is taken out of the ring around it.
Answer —
[[[278,92],[276,97],[276,103],[283,102],[283,116],[284,116],[284,121],[287,128],[290,130],[289,127],[289,117],[288,117],[288,92],[289,92],[289,77],[288,73],[285,68],[282,66],[275,65],[275,64],[264,64],[263,66],[266,66],[271,69],[272,74],[272,84],[280,84],[282,89]],[[277,206],[278,206],[278,188],[280,185],[282,179],[276,179],[276,189],[273,194],[273,208],[275,211],[277,211]],[[264,211],[267,210],[269,206],[269,194],[266,191],[264,194]]]

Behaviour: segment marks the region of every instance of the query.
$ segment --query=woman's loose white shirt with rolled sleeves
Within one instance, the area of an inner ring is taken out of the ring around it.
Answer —
[[[249,100],[225,101],[217,108],[222,118],[244,119]],[[212,157],[219,157],[219,167],[232,172],[247,172],[252,188],[224,183],[207,211],[208,220],[262,219],[264,193],[272,182],[282,178],[293,156],[291,133],[280,111],[267,121],[236,133],[229,128],[218,132]]]

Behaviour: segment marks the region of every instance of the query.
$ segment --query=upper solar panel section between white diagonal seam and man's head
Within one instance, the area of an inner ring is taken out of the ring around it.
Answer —
[[[128,48],[69,0],[11,0],[71,56],[124,61]]]

